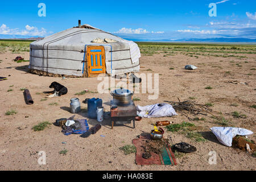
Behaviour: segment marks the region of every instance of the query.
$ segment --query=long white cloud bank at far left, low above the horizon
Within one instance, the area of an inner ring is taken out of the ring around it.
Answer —
[[[52,32],[47,32],[45,28],[38,29],[33,26],[25,26],[26,30],[19,30],[19,28],[9,28],[6,24],[0,27],[0,34],[3,35],[26,35],[26,36],[46,36]]]

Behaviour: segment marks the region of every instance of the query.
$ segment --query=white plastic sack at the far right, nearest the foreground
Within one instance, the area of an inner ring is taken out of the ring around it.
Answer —
[[[220,143],[228,147],[232,146],[232,139],[236,137],[236,135],[245,136],[253,134],[253,131],[241,129],[239,127],[212,127],[210,130]]]

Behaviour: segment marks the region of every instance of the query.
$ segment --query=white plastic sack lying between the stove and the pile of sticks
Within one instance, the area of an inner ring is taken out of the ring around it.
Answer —
[[[148,106],[137,106],[138,116],[142,118],[172,117],[177,115],[170,104],[154,104]]]

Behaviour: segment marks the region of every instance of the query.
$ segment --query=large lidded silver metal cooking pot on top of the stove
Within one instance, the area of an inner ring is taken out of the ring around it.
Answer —
[[[123,106],[131,103],[131,97],[133,93],[127,89],[117,89],[110,93],[113,96],[113,100],[116,105]]]

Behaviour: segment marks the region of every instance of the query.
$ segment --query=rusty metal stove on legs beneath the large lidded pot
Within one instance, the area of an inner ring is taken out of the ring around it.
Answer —
[[[110,114],[112,121],[112,129],[114,123],[123,125],[131,123],[133,121],[133,128],[135,129],[135,117],[137,117],[137,109],[133,101],[130,101],[128,105],[117,105],[114,101],[110,101]]]

